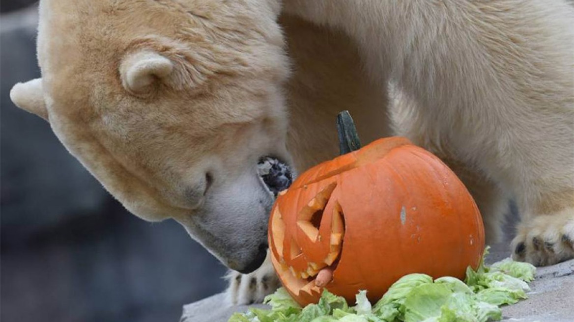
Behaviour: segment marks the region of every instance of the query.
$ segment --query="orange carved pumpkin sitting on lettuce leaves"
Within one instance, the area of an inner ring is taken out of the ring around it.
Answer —
[[[314,279],[328,266],[325,287],[353,303],[360,289],[378,300],[409,273],[464,278],[482,257],[484,227],[459,178],[435,155],[396,137],[301,174],[277,198],[269,245],[298,303],[319,300]]]

